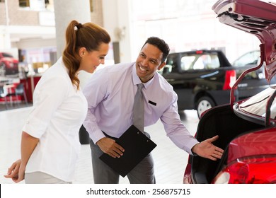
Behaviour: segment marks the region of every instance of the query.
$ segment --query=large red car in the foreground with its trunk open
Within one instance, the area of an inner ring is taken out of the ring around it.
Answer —
[[[221,0],[212,7],[221,23],[260,40],[260,64],[248,69],[231,90],[229,105],[207,110],[197,127],[199,141],[219,135],[221,160],[190,156],[184,183],[276,183],[276,4],[258,0]],[[234,103],[234,88],[248,72],[265,63],[270,88]]]

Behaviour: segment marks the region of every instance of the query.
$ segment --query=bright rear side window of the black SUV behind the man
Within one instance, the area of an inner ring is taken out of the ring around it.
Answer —
[[[183,71],[217,69],[219,68],[219,58],[217,54],[183,54],[180,65]]]

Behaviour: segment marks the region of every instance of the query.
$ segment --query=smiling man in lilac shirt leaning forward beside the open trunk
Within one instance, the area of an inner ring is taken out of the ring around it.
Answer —
[[[176,146],[189,154],[217,160],[224,152],[212,144],[218,136],[198,142],[185,128],[178,115],[177,95],[156,71],[165,66],[170,49],[158,37],[149,37],[136,62],[115,64],[100,69],[86,84],[88,115],[84,127],[91,138],[95,183],[118,183],[120,175],[99,159],[103,153],[120,158],[124,148],[116,143],[132,124],[134,96],[139,83],[144,84],[144,127],[159,119]],[[151,154],[127,174],[130,183],[155,183]]]

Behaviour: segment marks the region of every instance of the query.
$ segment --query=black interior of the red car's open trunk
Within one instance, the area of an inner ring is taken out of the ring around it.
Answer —
[[[236,136],[251,132],[251,130],[265,128],[264,125],[243,120],[234,114],[230,105],[220,105],[205,112],[197,126],[196,138],[204,141],[212,136],[219,135],[214,142],[215,146],[224,149],[222,159],[211,161],[200,156],[191,156],[192,178],[195,183],[211,183],[213,178],[226,163],[228,152],[227,147]]]

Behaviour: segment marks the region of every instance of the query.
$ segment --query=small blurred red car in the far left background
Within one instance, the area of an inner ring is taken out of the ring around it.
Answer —
[[[18,74],[18,59],[11,54],[0,52],[0,76]]]

